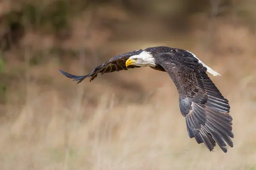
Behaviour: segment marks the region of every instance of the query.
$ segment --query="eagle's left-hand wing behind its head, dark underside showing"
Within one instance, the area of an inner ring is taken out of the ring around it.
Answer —
[[[87,75],[72,75],[68,72],[64,72],[63,70],[59,69],[59,71],[65,75],[68,78],[73,78],[73,81],[78,81],[77,83],[80,83],[81,81],[84,80],[84,78],[87,77],[91,77],[90,81],[92,81],[94,78],[97,77],[98,73],[104,74],[104,73],[108,73],[108,72],[115,72],[115,71],[120,71],[120,70],[127,70],[127,69],[132,69],[132,68],[137,68],[140,66],[134,66],[134,65],[130,65],[128,67],[125,66],[125,62],[126,60],[133,56],[133,55],[139,55],[141,52],[143,52],[143,50],[134,50],[131,52],[127,52],[125,54],[121,54],[121,55],[117,55],[113,58],[110,58],[108,61],[106,61],[105,63],[97,66],[93,71],[89,72]]]

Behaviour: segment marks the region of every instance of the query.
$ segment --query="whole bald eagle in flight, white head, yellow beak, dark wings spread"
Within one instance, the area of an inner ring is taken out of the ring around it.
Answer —
[[[226,143],[233,147],[233,118],[229,115],[228,100],[223,97],[207,72],[214,76],[220,74],[188,50],[166,46],[150,47],[110,58],[87,75],[76,76],[61,69],[59,71],[80,83],[87,77],[91,77],[92,81],[98,73],[144,66],[167,72],[171,77],[177,87],[180,112],[185,117],[190,138],[195,138],[198,144],[204,143],[209,151],[214,149],[216,143],[224,153],[227,152]]]

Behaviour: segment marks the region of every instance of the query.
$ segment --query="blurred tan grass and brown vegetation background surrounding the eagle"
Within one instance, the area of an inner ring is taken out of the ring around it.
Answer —
[[[190,139],[150,68],[84,75],[135,49],[193,52],[221,76],[234,147]],[[256,170],[255,0],[1,0],[1,170]]]

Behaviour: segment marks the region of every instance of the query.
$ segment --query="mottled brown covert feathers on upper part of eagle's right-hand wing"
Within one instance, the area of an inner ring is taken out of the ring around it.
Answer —
[[[172,78],[180,96],[201,104],[206,103],[208,96],[203,78],[199,75],[205,73],[206,69],[201,63],[173,53],[163,53],[158,57],[158,62]]]

